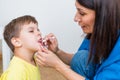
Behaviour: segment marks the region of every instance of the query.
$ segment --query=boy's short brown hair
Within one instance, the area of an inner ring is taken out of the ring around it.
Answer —
[[[38,22],[35,19],[35,17],[30,15],[24,15],[24,16],[13,19],[10,23],[8,23],[5,26],[4,32],[3,32],[4,40],[6,41],[6,43],[8,44],[8,46],[13,52],[14,52],[14,46],[11,43],[11,39],[13,37],[19,37],[22,26],[25,24],[29,24],[31,22],[38,25]]]

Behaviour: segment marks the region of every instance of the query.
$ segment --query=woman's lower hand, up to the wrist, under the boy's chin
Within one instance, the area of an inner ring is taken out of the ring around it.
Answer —
[[[53,52],[48,49],[41,48],[36,54],[36,62],[40,66],[57,68],[63,63]]]

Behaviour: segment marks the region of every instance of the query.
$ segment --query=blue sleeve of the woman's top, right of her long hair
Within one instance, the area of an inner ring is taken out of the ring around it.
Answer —
[[[101,64],[101,66],[97,70],[95,80],[97,80],[97,78],[101,78],[104,80],[107,79],[120,80],[119,76],[120,76],[120,37],[117,39],[116,44],[112,49],[109,57]]]

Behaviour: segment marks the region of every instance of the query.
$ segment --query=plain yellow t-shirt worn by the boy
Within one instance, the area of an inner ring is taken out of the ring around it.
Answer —
[[[40,70],[18,57],[13,57],[1,80],[41,80]]]

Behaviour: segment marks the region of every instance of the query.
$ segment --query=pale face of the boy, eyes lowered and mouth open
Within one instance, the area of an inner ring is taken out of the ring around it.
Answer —
[[[36,52],[40,48],[42,40],[37,24],[30,23],[23,25],[20,31],[19,40],[22,48]]]

